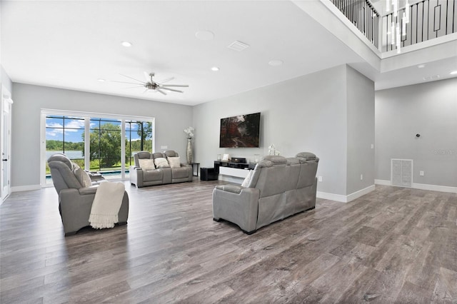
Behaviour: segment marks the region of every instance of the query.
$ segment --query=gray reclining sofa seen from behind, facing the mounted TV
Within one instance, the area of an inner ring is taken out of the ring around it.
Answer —
[[[298,153],[295,158],[265,156],[253,170],[247,187],[216,186],[213,219],[238,225],[244,233],[316,207],[319,158]]]

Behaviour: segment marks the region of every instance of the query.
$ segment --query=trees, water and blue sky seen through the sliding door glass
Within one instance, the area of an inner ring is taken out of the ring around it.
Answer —
[[[85,151],[85,126],[89,120],[89,151]],[[122,136],[122,123],[125,123],[125,134]],[[152,152],[151,121],[134,121],[109,118],[81,118],[73,116],[46,116],[46,159],[54,153],[65,153],[66,156],[84,166],[84,157],[89,155],[89,171],[121,170],[121,141],[125,139],[126,168],[134,164],[134,153]],[[46,175],[50,173],[46,164]]]

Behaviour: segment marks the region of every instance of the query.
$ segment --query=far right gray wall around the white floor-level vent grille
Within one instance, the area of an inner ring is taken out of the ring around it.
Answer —
[[[457,78],[376,91],[376,179],[390,181],[391,158],[408,158],[413,183],[457,187],[456,96]]]

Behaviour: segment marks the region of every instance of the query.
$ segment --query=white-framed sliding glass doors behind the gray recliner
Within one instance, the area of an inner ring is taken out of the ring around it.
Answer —
[[[81,168],[99,172],[106,179],[124,180],[129,178],[129,166],[134,165],[134,153],[154,152],[154,118],[53,112],[42,111],[44,186],[52,185],[46,160],[54,153],[65,153]]]

